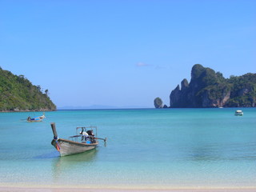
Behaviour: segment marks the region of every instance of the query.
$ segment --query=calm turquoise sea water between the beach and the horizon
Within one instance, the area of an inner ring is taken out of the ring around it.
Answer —
[[[256,109],[235,110],[58,110],[43,122],[0,113],[0,186],[256,186]],[[60,138],[98,126],[108,141],[60,158],[50,122]]]

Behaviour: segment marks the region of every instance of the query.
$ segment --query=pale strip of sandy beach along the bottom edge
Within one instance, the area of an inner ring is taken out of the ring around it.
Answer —
[[[1,185],[0,191],[8,192],[158,192],[158,191],[170,191],[170,192],[253,192],[256,191],[256,186],[42,186],[42,185]]]

